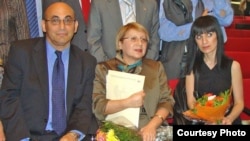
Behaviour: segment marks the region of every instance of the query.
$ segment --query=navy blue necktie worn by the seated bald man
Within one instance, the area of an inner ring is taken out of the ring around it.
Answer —
[[[57,59],[52,74],[52,127],[58,135],[66,129],[65,79],[62,52],[56,51]]]

